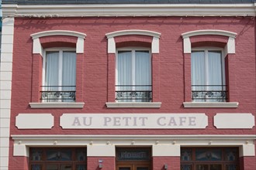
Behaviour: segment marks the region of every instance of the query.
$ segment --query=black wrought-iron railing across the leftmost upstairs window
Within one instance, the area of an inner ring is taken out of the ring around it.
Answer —
[[[40,100],[44,102],[74,102],[75,86],[42,86]]]

